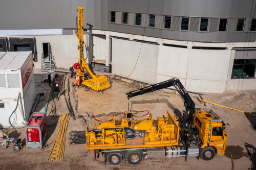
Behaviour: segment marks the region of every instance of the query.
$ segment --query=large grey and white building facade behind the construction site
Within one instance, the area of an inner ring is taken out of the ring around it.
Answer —
[[[256,89],[255,0],[2,0],[0,6],[1,37],[34,37],[39,68],[43,43],[51,44],[57,67],[78,61],[80,6],[89,63],[150,84],[176,77],[195,92]]]

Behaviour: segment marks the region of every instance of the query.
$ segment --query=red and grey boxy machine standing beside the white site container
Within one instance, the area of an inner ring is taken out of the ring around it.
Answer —
[[[26,126],[26,148],[42,148],[46,134],[46,113],[33,113]]]

